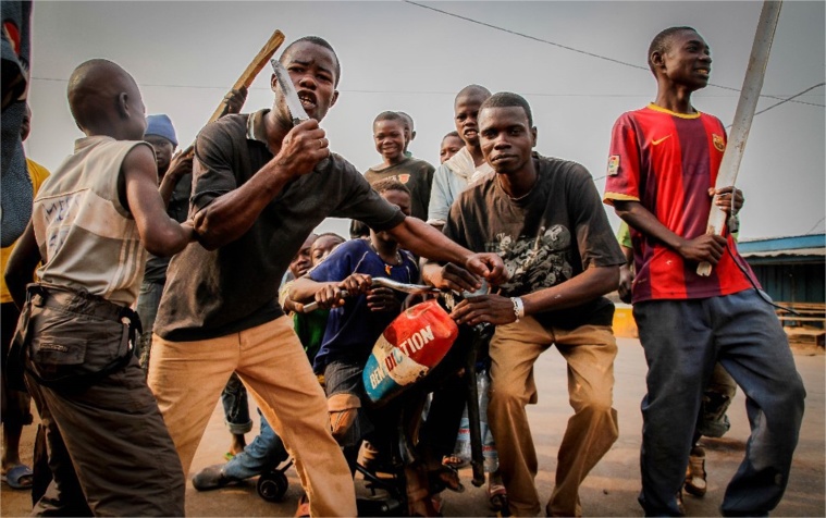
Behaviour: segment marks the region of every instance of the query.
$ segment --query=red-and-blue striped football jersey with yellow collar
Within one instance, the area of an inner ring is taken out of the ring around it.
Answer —
[[[661,223],[687,239],[705,233],[726,131],[706,113],[676,113],[655,104],[624,113],[614,124],[603,201],[639,201]],[[728,235],[728,248],[711,276],[696,274],[675,250],[631,229],[637,275],[633,301],[729,295],[754,279]],[[756,281],[755,281],[756,283]]]

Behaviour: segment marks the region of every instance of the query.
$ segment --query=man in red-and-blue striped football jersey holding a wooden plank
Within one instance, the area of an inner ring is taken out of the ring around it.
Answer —
[[[633,314],[649,365],[642,402],[642,492],[646,515],[679,516],[678,502],[702,392],[716,361],[747,395],[752,423],[745,459],[722,511],[765,516],[782,497],[805,390],[786,334],[761,298],[731,235],[706,235],[714,202],[741,205],[714,185],[726,133],[691,94],[708,84],[711,51],[691,27],[659,33],[649,49],[657,97],[614,125],[605,202],[631,227]],[[711,276],[696,274],[700,262]]]

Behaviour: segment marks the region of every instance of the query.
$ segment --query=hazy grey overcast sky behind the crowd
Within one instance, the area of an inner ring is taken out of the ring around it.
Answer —
[[[825,3],[784,3],[738,186],[741,237],[824,232]],[[537,150],[584,164],[604,190],[611,128],[654,100],[645,66],[653,36],[695,27],[712,48],[711,83],[694,106],[730,124],[762,2],[74,2],[35,1],[33,124],[27,155],[56,169],[82,136],[65,98],[72,70],[91,58],[121,64],[147,112],[167,113],[188,145],[274,29],[328,39],[342,63],[338,102],[322,121],[331,148],[359,171],[380,162],[371,123],[384,110],[416,121],[410,149],[434,165],[468,84],[523,95]],[[440,12],[441,11],[441,12]],[[276,52],[276,55],[280,51]],[[269,69],[244,111],[272,104]],[[768,97],[768,96],[774,96]],[[612,223],[618,220],[608,209]],[[338,220],[322,225],[346,235]]]

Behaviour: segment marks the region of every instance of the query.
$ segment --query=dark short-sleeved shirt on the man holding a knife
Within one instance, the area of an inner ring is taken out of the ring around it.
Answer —
[[[226,115],[195,146],[193,213],[252,177],[272,159],[263,116]],[[165,340],[224,336],[282,316],[278,287],[293,256],[324,218],[355,218],[377,230],[405,215],[338,155],[288,183],[241,237],[217,250],[190,243],[172,258],[155,332]]]

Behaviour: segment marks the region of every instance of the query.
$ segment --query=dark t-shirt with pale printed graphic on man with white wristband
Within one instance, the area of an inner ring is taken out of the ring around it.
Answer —
[[[489,173],[459,195],[444,227],[459,245],[502,257],[513,275],[501,286],[508,297],[555,286],[591,266],[625,262],[588,170],[535,153],[533,161],[539,175],[526,196],[511,199]],[[614,305],[599,297],[533,317],[546,328],[611,325]]]

